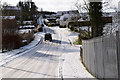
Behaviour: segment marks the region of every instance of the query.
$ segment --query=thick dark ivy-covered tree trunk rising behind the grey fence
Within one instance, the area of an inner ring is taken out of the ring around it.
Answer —
[[[92,37],[102,36],[103,32],[102,2],[90,2],[89,7]]]

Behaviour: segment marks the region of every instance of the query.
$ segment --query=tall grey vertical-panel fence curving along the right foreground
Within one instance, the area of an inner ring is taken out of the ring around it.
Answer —
[[[83,40],[83,62],[97,78],[120,78],[120,32]]]

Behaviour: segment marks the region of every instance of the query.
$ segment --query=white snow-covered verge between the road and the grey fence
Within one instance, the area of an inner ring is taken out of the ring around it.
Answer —
[[[64,78],[94,78],[81,63],[79,48],[68,46],[65,50],[66,53],[62,55]]]

